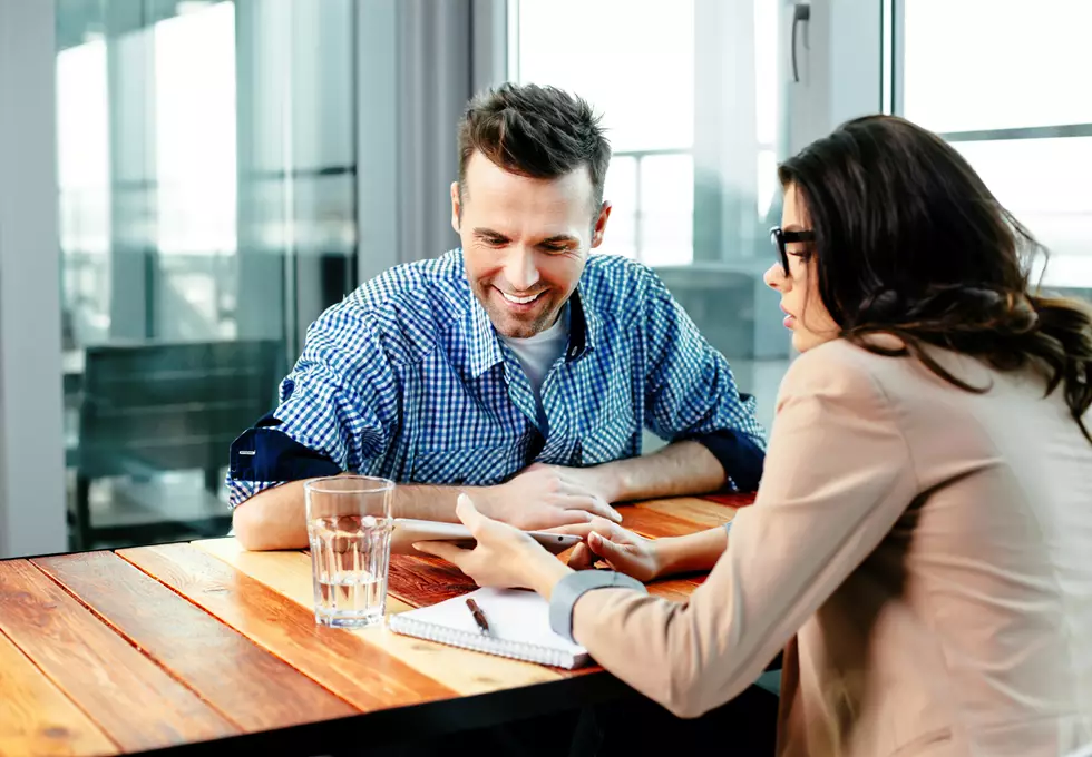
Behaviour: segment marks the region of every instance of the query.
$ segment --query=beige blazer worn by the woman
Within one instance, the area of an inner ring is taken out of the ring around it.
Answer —
[[[993,389],[842,341],[801,355],[758,499],[689,604],[593,591],[576,639],[683,717],[784,647],[786,756],[1092,741],[1092,444],[1037,375],[937,356]]]

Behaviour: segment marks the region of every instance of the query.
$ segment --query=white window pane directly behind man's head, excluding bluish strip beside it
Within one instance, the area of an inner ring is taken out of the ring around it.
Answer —
[[[509,78],[554,85],[603,114],[613,149],[606,252],[692,259],[694,1],[519,0]],[[654,43],[653,43],[654,40]]]

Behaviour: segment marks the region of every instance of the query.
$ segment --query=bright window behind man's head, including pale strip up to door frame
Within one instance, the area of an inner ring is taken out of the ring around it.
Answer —
[[[728,6],[509,3],[509,78],[562,87],[603,114],[614,150],[605,188],[614,210],[604,252],[677,266],[747,257],[757,236],[764,238],[781,130],[778,3]],[[738,128],[737,119],[748,127]],[[735,155],[725,159],[720,146],[728,144]],[[727,206],[703,201],[710,171],[719,198],[730,190]],[[745,212],[737,215],[741,207]],[[709,217],[711,208],[716,218]],[[720,233],[725,226],[728,236]]]

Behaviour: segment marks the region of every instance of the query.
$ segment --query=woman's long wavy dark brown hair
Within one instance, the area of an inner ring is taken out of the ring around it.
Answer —
[[[841,336],[875,353],[911,355],[945,381],[923,348],[973,355],[1001,371],[1037,366],[1060,386],[1085,439],[1092,405],[1092,308],[1031,292],[1045,253],[955,149],[893,116],[840,126],[779,169],[815,232],[819,294]],[[885,350],[866,337],[900,337]]]

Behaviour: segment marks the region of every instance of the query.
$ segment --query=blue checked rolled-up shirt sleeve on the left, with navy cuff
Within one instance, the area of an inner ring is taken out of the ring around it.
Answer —
[[[397,423],[398,397],[373,326],[349,301],[330,308],[308,331],[276,410],[232,443],[231,505],[289,481],[373,473]]]

